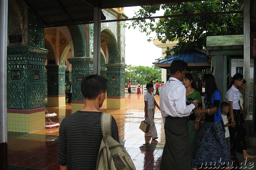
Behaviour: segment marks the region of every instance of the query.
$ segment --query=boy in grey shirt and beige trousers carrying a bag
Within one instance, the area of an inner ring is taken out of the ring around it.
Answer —
[[[152,139],[157,139],[157,132],[156,132],[156,126],[154,123],[154,115],[155,115],[155,106],[160,110],[160,107],[156,103],[156,99],[153,95],[154,91],[154,85],[152,83],[148,83],[146,85],[146,89],[148,91],[144,95],[144,102],[145,102],[145,117],[147,122],[149,123],[149,132],[145,133],[145,136],[152,137]]]

